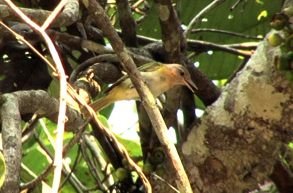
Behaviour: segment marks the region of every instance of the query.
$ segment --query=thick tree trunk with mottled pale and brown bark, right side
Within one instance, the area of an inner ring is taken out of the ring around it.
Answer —
[[[292,141],[292,88],[266,41],[181,146],[195,192],[246,192],[269,176]]]

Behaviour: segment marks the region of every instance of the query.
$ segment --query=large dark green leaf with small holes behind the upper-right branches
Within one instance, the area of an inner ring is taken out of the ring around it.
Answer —
[[[185,0],[181,2],[180,20],[183,25],[187,26],[189,22],[213,0],[198,1]],[[146,19],[138,25],[138,35],[161,39],[161,28],[158,21],[158,13],[155,3],[148,1],[152,6]],[[250,36],[258,36],[265,34],[271,29],[269,20],[274,13],[280,12],[281,1],[266,0],[262,3],[255,1],[247,1],[245,6],[243,3],[238,4],[233,11],[230,7],[235,1],[225,1],[218,7],[211,10],[204,16],[202,22],[197,23],[194,29],[207,28],[231,31]],[[243,9],[243,10],[242,10]],[[264,14],[265,13],[265,14]],[[199,32],[192,34],[188,39],[203,40],[217,44],[232,44],[243,42],[255,42],[253,39],[245,39],[235,37],[233,35]],[[216,52],[212,54],[202,53],[197,55],[194,62],[200,63],[199,69],[213,80],[228,79],[229,76],[239,67],[242,59],[238,55],[226,52]]]

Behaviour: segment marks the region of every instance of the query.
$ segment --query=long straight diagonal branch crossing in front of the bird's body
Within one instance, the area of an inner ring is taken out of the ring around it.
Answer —
[[[95,18],[99,26],[101,26],[103,33],[108,38],[121,64],[128,72],[133,85],[138,91],[138,94],[141,97],[144,107],[146,108],[149,114],[149,117],[152,120],[152,124],[154,126],[155,132],[158,134],[160,142],[162,146],[164,147],[167,158],[172,164],[171,169],[176,174],[175,178],[176,178],[177,186],[180,192],[182,193],[192,192],[190,183],[184,171],[184,168],[179,158],[179,155],[177,153],[177,150],[174,144],[170,141],[170,139],[167,138],[167,133],[166,133],[167,127],[160,114],[160,111],[155,105],[155,99],[153,98],[149,89],[145,85],[144,80],[141,77],[141,74],[138,72],[135,66],[135,63],[133,62],[132,58],[128,54],[128,51],[124,47],[117,32],[115,31],[114,27],[111,25],[111,22],[108,16],[106,15],[102,7],[100,7],[99,4],[95,0],[90,0],[90,1],[83,0],[83,3],[87,7],[87,9],[90,11],[90,13],[93,15],[93,17]],[[90,111],[90,109],[88,110]],[[92,112],[92,114],[94,115],[94,112]],[[94,118],[96,119],[96,117]],[[124,152],[124,149],[120,149],[120,151]],[[124,154],[124,155],[129,160],[129,165],[131,165],[132,167],[136,169],[137,166],[128,157],[128,154]],[[139,175],[142,177],[144,184],[146,185],[147,192],[151,192],[148,180],[144,177],[144,174],[141,172],[140,169],[138,169],[137,171]]]

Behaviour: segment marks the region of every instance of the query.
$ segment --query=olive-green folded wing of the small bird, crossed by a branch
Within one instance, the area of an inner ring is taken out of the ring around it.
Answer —
[[[161,62],[151,62],[151,63],[144,64],[144,65],[138,67],[138,70],[141,72],[151,72],[151,71],[154,71],[162,66],[163,66],[163,64]],[[123,82],[127,78],[129,78],[128,74],[122,76],[112,86],[110,86],[105,91],[103,91],[103,93],[108,94],[115,86],[119,85],[121,82]]]

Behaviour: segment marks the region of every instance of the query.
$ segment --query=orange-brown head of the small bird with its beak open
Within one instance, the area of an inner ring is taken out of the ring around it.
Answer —
[[[170,73],[170,81],[173,85],[186,85],[192,92],[197,90],[197,86],[192,82],[187,69],[180,64],[167,64]]]

